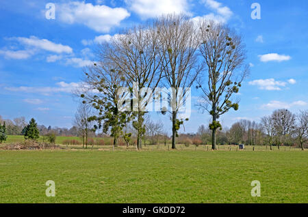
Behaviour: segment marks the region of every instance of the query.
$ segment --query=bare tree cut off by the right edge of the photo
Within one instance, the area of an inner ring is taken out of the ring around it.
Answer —
[[[304,150],[304,143],[308,141],[308,110],[300,111],[296,115],[298,121],[296,126],[296,136],[300,142],[300,147]]]

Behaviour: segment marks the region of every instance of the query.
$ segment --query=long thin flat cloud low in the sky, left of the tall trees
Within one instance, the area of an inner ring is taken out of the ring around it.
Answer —
[[[82,87],[82,83],[65,83],[64,81],[55,84],[56,87],[4,87],[8,91],[25,92],[25,93],[41,93],[49,95],[50,93],[72,93],[74,89]]]

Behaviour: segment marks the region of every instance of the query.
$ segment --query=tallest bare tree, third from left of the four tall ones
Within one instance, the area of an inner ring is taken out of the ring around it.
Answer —
[[[172,89],[169,104],[172,109],[172,149],[175,149],[175,137],[184,120],[178,117],[179,109],[185,103],[186,88],[192,86],[199,72],[196,56],[198,41],[194,23],[183,14],[161,16],[155,25],[162,43],[164,86]]]

